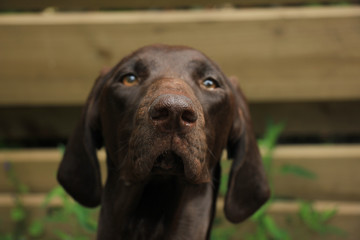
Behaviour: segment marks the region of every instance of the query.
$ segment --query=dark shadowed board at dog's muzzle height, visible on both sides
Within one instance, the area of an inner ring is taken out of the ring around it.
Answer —
[[[286,123],[283,138],[311,136],[318,141],[360,136],[358,109],[360,101],[250,104],[258,136],[263,136],[267,122],[272,119]],[[81,106],[3,107],[0,136],[8,145],[19,141],[30,145],[58,144],[70,136],[80,113]]]

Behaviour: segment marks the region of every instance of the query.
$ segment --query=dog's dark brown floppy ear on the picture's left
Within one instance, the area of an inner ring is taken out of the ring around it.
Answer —
[[[96,155],[96,149],[102,145],[98,105],[107,72],[108,69],[103,69],[95,81],[57,173],[64,189],[87,207],[96,207],[101,200],[100,167]]]

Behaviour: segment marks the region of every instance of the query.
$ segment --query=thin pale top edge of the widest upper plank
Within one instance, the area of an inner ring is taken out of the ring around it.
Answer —
[[[359,7],[297,7],[134,12],[23,13],[1,15],[0,25],[208,23],[359,17]]]

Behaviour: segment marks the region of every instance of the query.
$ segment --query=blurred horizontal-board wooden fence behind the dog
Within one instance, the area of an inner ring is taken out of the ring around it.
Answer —
[[[126,2],[2,1],[0,10],[149,7],[142,1]],[[152,4],[188,8],[194,3],[172,2]],[[310,1],[251,2],[264,6]],[[218,6],[224,2],[195,3]],[[315,172],[317,178],[277,176],[276,194],[291,201],[280,202],[271,211],[281,216],[295,214],[297,198],[315,201],[318,209],[336,206],[334,221],[349,233],[346,239],[359,239],[359,29],[357,5],[0,14],[0,137],[14,142],[64,139],[102,67],[114,65],[146,44],[189,45],[219,63],[227,75],[238,76],[259,136],[271,118],[286,122],[283,136],[288,139],[300,138],[303,143],[309,137],[311,141],[335,139],[335,143],[342,139],[342,144],[276,149],[276,166],[297,164]],[[99,155],[104,166],[105,154]],[[30,209],[39,206],[56,185],[60,158],[57,149],[0,151],[0,164],[13,162],[20,180],[29,186],[24,201]],[[13,192],[0,173],[1,215],[8,214],[13,205]]]

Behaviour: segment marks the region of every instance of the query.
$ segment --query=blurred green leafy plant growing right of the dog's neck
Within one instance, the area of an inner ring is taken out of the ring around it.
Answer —
[[[276,168],[273,164],[273,153],[276,148],[278,138],[283,131],[285,124],[269,123],[264,137],[258,141],[260,149],[262,150],[262,160],[265,171],[270,183],[271,192],[274,192],[273,179],[274,175],[291,174],[294,176],[315,179],[316,174],[313,172],[296,165],[286,164],[280,168]],[[220,184],[220,195],[224,196],[227,188],[228,173],[230,169],[230,161],[222,161],[222,179]],[[268,213],[269,207],[277,201],[277,197],[272,195],[270,200],[259,209],[252,217],[251,221],[255,225],[254,232],[248,233],[245,237],[246,240],[291,240],[292,236],[288,229],[280,227],[275,218]],[[328,224],[328,221],[336,214],[335,209],[320,212],[315,210],[311,202],[304,200],[299,201],[299,212],[301,224],[311,231],[318,234],[340,234],[344,235],[344,231]],[[225,223],[225,220],[216,219],[214,223],[215,229],[213,230],[213,240],[232,239],[234,236],[234,228]],[[236,238],[234,238],[236,239]]]

